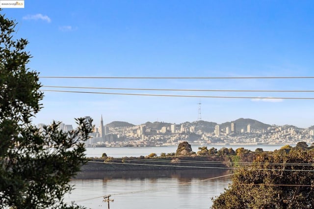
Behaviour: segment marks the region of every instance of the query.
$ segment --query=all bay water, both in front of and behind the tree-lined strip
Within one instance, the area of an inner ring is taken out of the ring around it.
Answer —
[[[283,145],[209,145],[234,150],[244,147],[254,151],[280,149]],[[194,152],[198,147],[192,146]],[[169,147],[103,147],[87,148],[87,157],[139,157],[151,153],[173,153]],[[71,180],[74,190],[65,196],[65,202],[75,201],[88,209],[107,209],[104,196],[111,195],[110,209],[209,209],[211,198],[219,196],[231,183],[232,171],[225,169],[189,169],[173,171],[119,171],[81,172]]]

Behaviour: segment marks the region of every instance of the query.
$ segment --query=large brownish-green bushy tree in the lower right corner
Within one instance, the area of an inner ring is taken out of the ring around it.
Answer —
[[[213,200],[213,209],[314,208],[314,150],[259,153]],[[309,166],[311,165],[311,166]]]

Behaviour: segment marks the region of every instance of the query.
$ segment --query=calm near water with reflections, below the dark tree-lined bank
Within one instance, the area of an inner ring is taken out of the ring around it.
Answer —
[[[111,194],[114,202],[110,202],[110,209],[209,209],[211,197],[219,195],[230,183],[230,177],[210,178],[226,174],[228,171],[219,169],[90,172],[71,181],[76,189],[66,195],[66,201],[92,209],[107,208],[103,196]]]

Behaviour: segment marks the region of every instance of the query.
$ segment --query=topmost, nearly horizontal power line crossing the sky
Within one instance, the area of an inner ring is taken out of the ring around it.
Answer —
[[[40,76],[38,78],[81,78],[81,79],[312,79],[314,77],[80,77],[80,76]]]

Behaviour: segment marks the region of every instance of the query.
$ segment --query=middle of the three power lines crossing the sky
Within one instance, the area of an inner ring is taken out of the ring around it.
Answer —
[[[208,91],[208,92],[314,92],[314,90],[224,90],[224,89],[152,89],[152,88],[109,88],[109,87],[79,87],[79,86],[46,86],[48,88],[78,88],[106,90],[144,90],[144,91]]]

